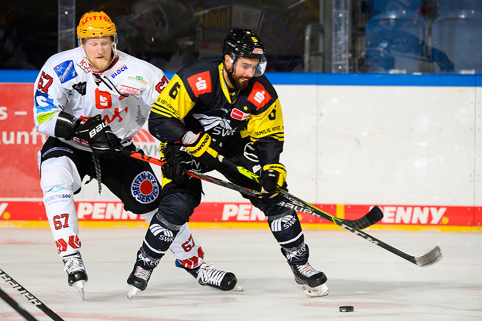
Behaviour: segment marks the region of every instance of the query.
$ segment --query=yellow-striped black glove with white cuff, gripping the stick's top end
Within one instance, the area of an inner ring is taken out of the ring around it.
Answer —
[[[211,169],[216,169],[220,164],[217,160],[218,150],[221,143],[209,136],[207,132],[201,131],[198,134],[188,131],[182,137],[182,143],[186,145],[186,149],[191,152],[193,157],[207,165]]]

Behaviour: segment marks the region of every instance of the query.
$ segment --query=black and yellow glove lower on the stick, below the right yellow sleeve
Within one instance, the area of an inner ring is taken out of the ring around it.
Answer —
[[[263,181],[263,198],[266,201],[278,203],[280,201],[277,188],[286,187],[286,169],[282,164],[268,164],[261,171],[261,180]]]

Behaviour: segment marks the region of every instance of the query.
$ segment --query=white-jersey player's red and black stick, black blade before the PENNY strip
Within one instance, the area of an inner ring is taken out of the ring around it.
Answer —
[[[123,148],[123,149],[121,149],[121,152],[125,155],[129,155],[131,157],[141,159],[141,161],[145,161],[145,162],[155,164],[155,165],[158,165],[158,166],[163,166],[164,164],[166,164],[166,162],[162,162],[160,159],[145,155],[145,154],[143,154],[141,152],[138,152],[138,151],[130,151],[130,150],[127,150],[127,149]],[[249,196],[253,196],[253,197],[261,197],[262,196],[262,194],[260,192],[257,192],[257,191],[254,191],[254,190],[251,190],[251,189],[233,184],[231,182],[226,182],[226,181],[223,181],[223,180],[220,180],[220,179],[217,179],[217,178],[214,178],[214,177],[211,177],[211,176],[208,176],[208,175],[196,172],[196,171],[188,170],[188,171],[186,171],[186,174],[189,175],[189,176],[198,178],[200,180],[203,180],[203,181],[206,181],[206,182],[209,182],[209,183],[214,183],[216,185],[220,185],[220,186],[226,187],[228,189],[231,189],[231,190],[234,190],[234,191],[237,191],[239,193],[243,193],[243,194],[246,194],[246,195],[249,195]],[[339,219],[337,217],[334,217],[334,216],[324,212],[323,210],[320,210],[319,208],[317,208],[317,207],[315,207],[311,204],[308,204],[308,203],[304,202],[303,200],[301,200],[299,198],[294,197],[293,195],[291,195],[289,193],[282,193],[281,197],[282,197],[283,201],[280,202],[280,205],[282,205],[284,207],[287,207],[287,208],[290,208],[290,209],[294,209],[296,211],[306,213],[306,214],[317,216],[319,218],[322,218],[322,219],[325,219],[327,221],[333,222],[337,225],[346,224],[346,225],[349,225],[349,226],[352,226],[352,227],[355,227],[355,228],[358,228],[358,229],[364,229],[364,228],[367,228],[369,226],[372,226],[373,224],[377,223],[378,221],[380,221],[383,218],[383,212],[378,206],[375,206],[374,208],[372,208],[370,210],[370,212],[365,214],[365,216],[363,216],[362,218],[359,218],[357,220],[344,220],[344,219]]]

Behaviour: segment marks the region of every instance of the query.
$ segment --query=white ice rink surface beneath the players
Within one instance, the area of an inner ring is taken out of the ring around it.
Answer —
[[[126,283],[144,228],[80,228],[89,276],[85,300],[67,284],[49,228],[0,228],[0,269],[65,321],[481,320],[482,234],[370,230],[413,256],[439,245],[421,268],[346,230],[308,230],[310,263],[328,276],[328,296],[309,298],[268,229],[197,229],[205,259],[232,271],[243,292],[195,284],[171,253],[132,300]],[[0,287],[38,320],[51,320],[3,280]],[[339,312],[353,305],[353,312]],[[0,321],[24,318],[0,299]]]

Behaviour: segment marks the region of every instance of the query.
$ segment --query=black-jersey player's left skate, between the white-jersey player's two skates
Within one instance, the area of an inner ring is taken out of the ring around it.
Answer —
[[[152,271],[160,260],[161,259],[150,259],[144,256],[142,250],[137,252],[136,264],[134,264],[134,268],[127,278],[127,284],[130,285],[129,292],[127,293],[129,299],[132,299],[134,295],[146,289]],[[146,269],[143,266],[148,267],[149,269]]]

